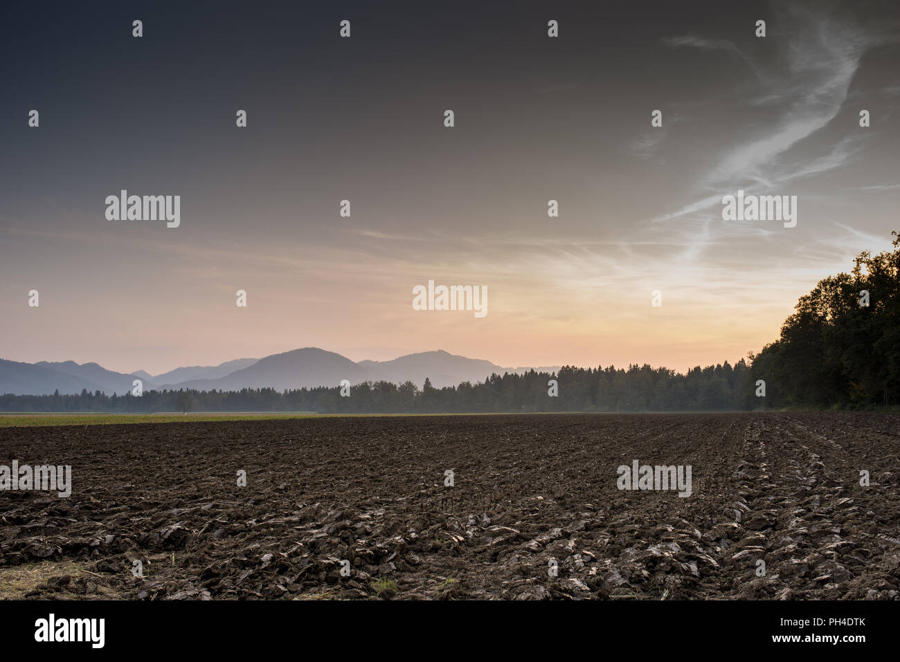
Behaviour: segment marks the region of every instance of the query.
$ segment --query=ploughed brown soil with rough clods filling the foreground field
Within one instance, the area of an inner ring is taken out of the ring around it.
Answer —
[[[0,492],[0,597],[896,599],[898,458],[878,414],[5,428],[73,492]],[[635,459],[693,494],[619,490]]]

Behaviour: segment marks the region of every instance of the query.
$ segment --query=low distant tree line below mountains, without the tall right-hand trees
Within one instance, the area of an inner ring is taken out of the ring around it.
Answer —
[[[436,389],[407,381],[366,381],[345,390],[193,389],[147,390],[140,397],[91,393],[78,395],[0,396],[7,412],[132,412],[155,411],[314,411],[339,413],[459,413],[535,411],[724,411],[750,408],[750,370],[743,359],[694,368],[680,374],[650,365],[627,369],[576,368],[492,374],[475,384]],[[555,383],[554,383],[555,382]]]

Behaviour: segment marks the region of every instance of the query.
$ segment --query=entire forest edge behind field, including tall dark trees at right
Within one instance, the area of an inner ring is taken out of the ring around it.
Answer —
[[[900,404],[900,234],[893,252],[854,260],[851,273],[820,281],[801,297],[779,339],[734,365],[686,374],[564,366],[550,374],[493,374],[483,382],[422,389],[408,381],[341,389],[145,391],[139,397],[0,396],[6,412],[314,411],[436,413],[535,411],[726,411],[759,408],[873,408]],[[764,394],[763,394],[764,393]]]

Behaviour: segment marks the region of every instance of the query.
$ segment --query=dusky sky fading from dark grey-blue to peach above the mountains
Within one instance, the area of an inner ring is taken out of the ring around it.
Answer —
[[[900,229],[893,0],[4,12],[4,359],[684,371],[759,352]],[[180,195],[179,227],[107,219],[122,189]],[[797,196],[796,227],[723,219],[738,190]],[[487,315],[413,309],[429,280]]]

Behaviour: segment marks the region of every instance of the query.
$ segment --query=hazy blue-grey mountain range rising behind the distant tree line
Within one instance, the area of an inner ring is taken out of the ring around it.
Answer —
[[[469,359],[443,350],[407,354],[392,361],[353,362],[346,356],[317,347],[272,354],[262,359],[236,359],[219,365],[190,366],[151,375],[146,371],[130,374],[106,370],[97,363],[73,361],[23,363],[0,359],[0,394],[52,395],[103,391],[123,395],[139,379],[143,389],[302,389],[338,386],[341,380],[351,384],[363,381],[412,381],[419,388],[425,379],[440,389],[462,381],[483,381],[491,373],[526,372],[531,368],[503,368],[490,361]],[[554,372],[559,366],[536,367]]]

